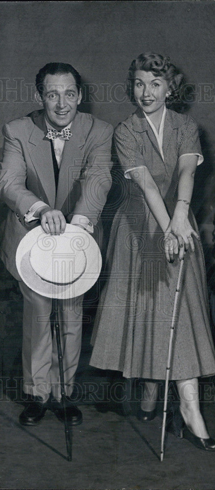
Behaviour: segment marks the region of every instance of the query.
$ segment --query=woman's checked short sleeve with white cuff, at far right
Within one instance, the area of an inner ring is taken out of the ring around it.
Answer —
[[[199,141],[198,127],[192,118],[188,119],[188,124],[179,147],[179,158],[182,155],[197,155],[197,165],[200,165],[204,160]]]

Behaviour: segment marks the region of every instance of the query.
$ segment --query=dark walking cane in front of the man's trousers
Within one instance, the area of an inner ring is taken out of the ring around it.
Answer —
[[[66,417],[66,406],[65,406],[65,384],[64,384],[64,366],[63,366],[63,355],[61,348],[61,337],[60,337],[60,322],[59,322],[59,303],[58,299],[54,298],[54,312],[55,312],[55,332],[56,332],[56,341],[58,348],[58,362],[59,362],[59,371],[60,371],[60,382],[61,382],[61,399],[64,409],[64,431],[65,431],[65,442],[66,442],[66,450],[67,450],[67,460],[72,461],[72,445],[70,439],[70,430]]]

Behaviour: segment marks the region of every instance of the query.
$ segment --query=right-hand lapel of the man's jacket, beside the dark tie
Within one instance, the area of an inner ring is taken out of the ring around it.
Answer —
[[[74,180],[79,176],[85,156],[84,145],[92,123],[86,123],[85,114],[76,113],[71,125],[72,137],[65,141],[60,166],[58,190],[55,206],[62,209],[64,202],[72,189]]]

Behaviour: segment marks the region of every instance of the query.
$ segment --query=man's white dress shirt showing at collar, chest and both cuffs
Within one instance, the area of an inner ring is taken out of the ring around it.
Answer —
[[[49,129],[49,128],[55,129],[53,126],[51,126],[50,123],[48,123],[46,121],[46,119],[45,119],[45,124],[46,124],[47,129]],[[68,126],[62,128],[62,129],[70,129],[71,125],[72,125],[72,122],[69,123]],[[61,136],[57,136],[57,138],[55,138],[53,140],[54,152],[55,152],[55,156],[56,156],[56,160],[57,160],[57,164],[58,164],[59,168],[61,165],[62,155],[63,155],[63,151],[64,151],[64,144],[65,144],[65,140]],[[37,201],[34,204],[32,204],[30,209],[24,215],[25,221],[27,221],[29,223],[30,221],[38,220],[38,218],[36,218],[34,216],[34,213],[39,208],[41,208],[43,206],[47,206],[47,204],[43,201]],[[89,221],[89,219],[86,216],[74,215],[72,217],[71,224],[81,225],[86,229],[86,231],[88,231],[89,233],[93,233],[93,224]]]

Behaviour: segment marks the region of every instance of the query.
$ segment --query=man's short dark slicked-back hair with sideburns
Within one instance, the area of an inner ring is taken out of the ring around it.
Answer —
[[[36,75],[36,88],[41,97],[43,97],[43,81],[47,74],[49,75],[62,75],[64,73],[71,73],[74,76],[75,84],[78,89],[78,93],[81,88],[81,75],[77,72],[77,70],[68,63],[47,63],[43,68],[39,70]]]

